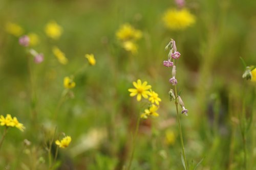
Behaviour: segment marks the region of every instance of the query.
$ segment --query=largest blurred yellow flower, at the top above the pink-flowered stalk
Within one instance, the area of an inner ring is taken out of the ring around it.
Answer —
[[[195,23],[195,16],[187,9],[169,9],[163,15],[164,25],[170,30],[182,30]]]

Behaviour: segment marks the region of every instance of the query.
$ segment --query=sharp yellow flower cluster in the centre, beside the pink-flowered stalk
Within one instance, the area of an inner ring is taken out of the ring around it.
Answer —
[[[137,95],[138,102],[144,98],[148,99],[148,102],[150,103],[149,107],[144,110],[144,113],[142,113],[140,117],[147,118],[148,116],[159,116],[157,110],[159,108],[159,102],[161,102],[161,99],[158,97],[158,93],[153,91],[151,89],[151,85],[147,85],[146,81],[142,83],[140,79],[138,79],[137,82],[133,82],[133,85],[135,88],[128,89],[128,91],[131,92],[130,96],[133,97]]]

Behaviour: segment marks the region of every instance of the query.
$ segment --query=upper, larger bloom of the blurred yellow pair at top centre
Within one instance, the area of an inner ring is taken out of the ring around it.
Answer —
[[[116,32],[116,37],[122,41],[140,39],[141,36],[141,31],[134,29],[129,23],[122,25]]]

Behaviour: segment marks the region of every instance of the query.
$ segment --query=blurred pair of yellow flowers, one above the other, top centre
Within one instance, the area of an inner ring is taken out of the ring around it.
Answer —
[[[140,39],[141,36],[141,31],[136,30],[129,23],[122,25],[116,32],[116,37],[121,41],[122,47],[132,54],[136,54],[138,52],[138,46],[135,41]]]

